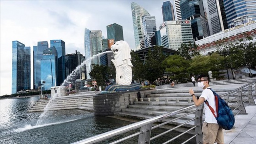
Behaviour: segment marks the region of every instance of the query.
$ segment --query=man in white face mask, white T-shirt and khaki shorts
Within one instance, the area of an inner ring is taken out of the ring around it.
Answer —
[[[192,89],[189,90],[189,93],[192,96],[192,99],[195,105],[198,107],[205,100],[208,101],[209,105],[213,107],[213,110],[216,113],[216,106],[215,106],[215,98],[213,92],[208,89],[209,87],[209,77],[208,75],[199,75],[197,77],[197,85],[199,88],[203,89],[202,95],[197,98],[194,94]],[[209,107],[204,103],[204,113],[205,113],[205,120],[203,122],[202,132],[203,132],[203,144],[224,144],[224,135],[222,128],[219,127],[216,118],[213,116],[213,113],[209,109]]]

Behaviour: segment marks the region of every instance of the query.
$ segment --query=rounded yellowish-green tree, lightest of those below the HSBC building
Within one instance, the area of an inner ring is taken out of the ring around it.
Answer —
[[[183,78],[188,77],[187,69],[189,67],[189,60],[181,55],[170,55],[163,61],[163,65],[165,65],[166,72],[174,74],[174,76],[171,76],[173,80],[181,81]]]

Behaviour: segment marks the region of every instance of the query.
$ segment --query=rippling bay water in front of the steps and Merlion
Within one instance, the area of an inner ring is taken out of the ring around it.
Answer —
[[[36,125],[42,112],[27,112],[27,110],[38,99],[39,97],[0,100],[0,144],[70,144],[131,124],[109,117],[96,117],[93,113],[82,110],[63,110],[50,111],[44,121]],[[165,129],[154,129],[151,137],[156,131],[165,131]],[[133,132],[139,132],[139,129]],[[126,135],[130,134],[132,132]],[[170,139],[177,134],[179,133],[169,133],[165,137]],[[123,137],[116,136],[113,139],[120,138]],[[100,144],[108,144],[111,140]],[[150,143],[159,144],[160,140]],[[138,137],[135,137],[122,144],[137,142]],[[176,141],[173,144],[178,143],[180,142]]]

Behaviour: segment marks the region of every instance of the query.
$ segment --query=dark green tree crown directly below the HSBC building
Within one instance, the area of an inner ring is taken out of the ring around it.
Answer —
[[[181,47],[177,50],[178,55],[184,57],[187,60],[192,59],[192,57],[195,57],[197,55],[200,55],[200,53],[197,51],[197,44],[192,43],[181,43]]]

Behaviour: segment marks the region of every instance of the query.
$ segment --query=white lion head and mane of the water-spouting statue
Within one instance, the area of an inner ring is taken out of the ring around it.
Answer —
[[[123,64],[123,60],[127,60],[129,66],[133,66],[131,63],[131,53],[130,47],[125,41],[117,41],[114,45],[111,46],[111,50],[115,55],[115,60],[117,61],[117,66]]]

